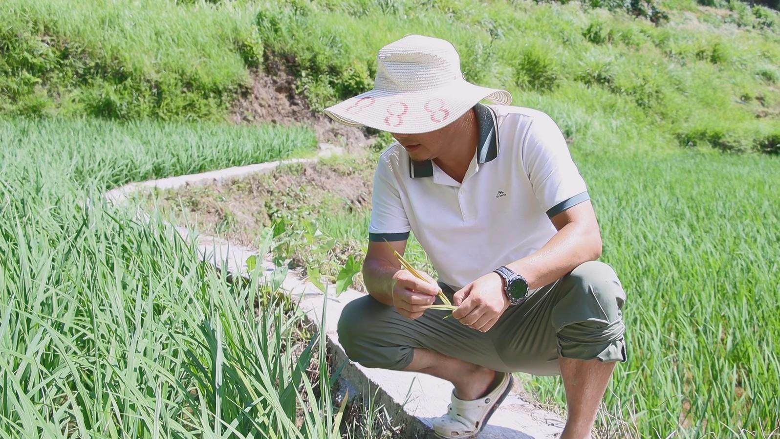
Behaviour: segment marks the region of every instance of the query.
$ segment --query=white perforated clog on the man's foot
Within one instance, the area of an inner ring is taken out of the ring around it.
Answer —
[[[456,398],[452,391],[452,403],[445,416],[433,420],[434,432],[444,439],[476,437],[484,429],[495,409],[512,390],[512,374],[504,374],[498,385],[488,395],[479,399]]]

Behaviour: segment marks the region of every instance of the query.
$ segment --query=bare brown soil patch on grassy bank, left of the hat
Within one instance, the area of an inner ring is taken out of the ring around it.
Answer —
[[[230,119],[233,122],[303,124],[314,130],[320,142],[332,143],[348,151],[360,150],[373,143],[374,136],[365,129],[342,125],[312,111],[303,95],[296,91],[296,78],[289,73],[285,62],[272,62],[271,65],[272,75],[259,70],[251,73],[251,87],[232,105]]]

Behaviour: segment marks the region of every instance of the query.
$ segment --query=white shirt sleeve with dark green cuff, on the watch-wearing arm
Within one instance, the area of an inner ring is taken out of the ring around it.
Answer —
[[[523,171],[548,217],[590,200],[566,139],[548,115],[537,116],[531,122],[522,154]]]

